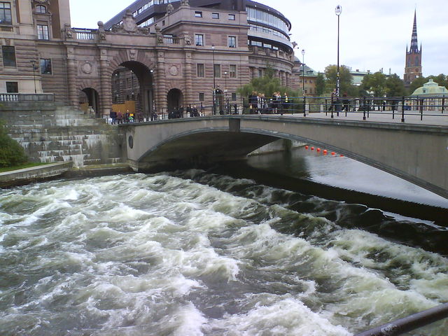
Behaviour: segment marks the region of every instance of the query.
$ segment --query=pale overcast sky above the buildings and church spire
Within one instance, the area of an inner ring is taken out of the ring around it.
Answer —
[[[97,28],[134,0],[70,0],[71,25]],[[337,63],[337,16],[339,64],[353,70],[391,69],[402,77],[406,45],[409,47],[417,13],[417,34],[423,49],[423,76],[448,75],[448,0],[259,0],[290,20],[295,55],[316,71]],[[88,9],[87,9],[88,8]]]

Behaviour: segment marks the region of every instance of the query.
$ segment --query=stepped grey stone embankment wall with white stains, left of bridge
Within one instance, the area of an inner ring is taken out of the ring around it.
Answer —
[[[31,160],[73,161],[75,167],[122,162],[118,127],[107,125],[105,119],[60,104],[52,103],[52,110],[33,110],[29,105],[11,111],[3,108],[0,118]]]

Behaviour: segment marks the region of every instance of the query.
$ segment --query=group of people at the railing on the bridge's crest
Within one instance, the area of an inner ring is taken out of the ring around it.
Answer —
[[[283,112],[288,111],[288,107],[290,106],[290,99],[286,92],[283,96],[280,92],[274,92],[272,97],[265,97],[264,93],[254,91],[249,95],[248,99],[250,113],[279,113],[283,115]]]

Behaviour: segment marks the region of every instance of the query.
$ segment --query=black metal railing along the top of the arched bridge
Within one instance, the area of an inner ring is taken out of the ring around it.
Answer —
[[[192,112],[196,106],[197,113]],[[216,97],[215,102],[192,102],[183,107],[157,109],[151,120],[191,118],[192,116],[220,116],[229,114],[260,114],[279,116],[328,116],[381,121],[407,118],[413,121],[426,117],[448,117],[446,97],[251,97],[239,101]],[[150,118],[148,118],[150,120]]]

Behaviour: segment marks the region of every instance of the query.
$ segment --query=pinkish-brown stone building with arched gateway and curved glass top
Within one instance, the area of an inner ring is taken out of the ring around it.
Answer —
[[[118,17],[79,29],[71,27],[69,0],[0,1],[0,97],[48,93],[106,115],[123,99],[117,94],[130,91],[120,90],[127,70],[149,115],[210,104],[214,94],[217,104],[236,102],[237,88],[267,66],[293,86],[290,22],[273,8],[248,0],[142,0]]]

